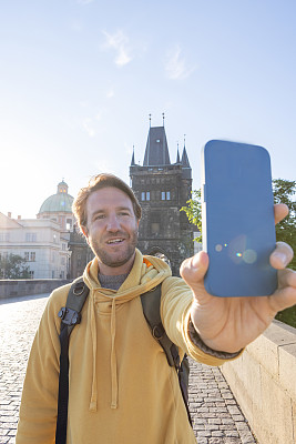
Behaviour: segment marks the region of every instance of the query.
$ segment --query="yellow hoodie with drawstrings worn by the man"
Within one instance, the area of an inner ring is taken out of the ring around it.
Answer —
[[[68,444],[191,444],[177,375],[144,319],[140,294],[162,283],[161,316],[180,353],[210,365],[224,361],[203,353],[187,332],[192,293],[172,278],[165,262],[136,250],[131,273],[119,291],[102,289],[98,261],[83,279],[91,289],[81,324],[69,346]],[[53,444],[58,408],[58,313],[70,289],[49,299],[37,332],[24,380],[17,444]]]

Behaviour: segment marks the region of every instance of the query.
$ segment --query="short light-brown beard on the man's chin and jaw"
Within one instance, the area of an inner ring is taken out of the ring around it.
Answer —
[[[126,233],[118,232],[112,236],[123,236],[125,245],[122,248],[120,244],[114,245],[114,250],[109,252],[105,243],[96,239],[89,239],[90,246],[98,259],[105,265],[111,268],[122,266],[134,255],[135,246],[137,244],[137,229],[132,231],[126,238]]]

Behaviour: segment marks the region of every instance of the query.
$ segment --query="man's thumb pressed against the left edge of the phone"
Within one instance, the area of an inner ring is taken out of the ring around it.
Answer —
[[[208,268],[208,255],[204,251],[186,259],[180,268],[180,274],[184,281],[194,290],[201,284]]]

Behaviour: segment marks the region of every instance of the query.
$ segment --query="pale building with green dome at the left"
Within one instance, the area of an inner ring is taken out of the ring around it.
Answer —
[[[11,213],[0,213],[1,258],[9,254],[23,258],[32,279],[69,279],[72,202],[68,184],[62,181],[57,193],[42,203],[37,219],[13,219]]]

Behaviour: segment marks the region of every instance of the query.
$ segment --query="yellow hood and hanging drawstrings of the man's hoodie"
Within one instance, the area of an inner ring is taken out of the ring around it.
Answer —
[[[98,259],[94,258],[91,261],[83,273],[83,281],[90,289],[89,306],[88,306],[88,327],[90,329],[92,337],[92,389],[91,389],[91,401],[90,410],[96,412],[98,401],[98,387],[96,387],[96,323],[95,323],[95,306],[102,306],[102,310],[110,311],[110,332],[111,332],[111,408],[118,408],[118,363],[116,363],[116,350],[115,350],[115,336],[116,336],[116,307],[131,301],[134,297],[140,296],[143,293],[154,289],[164,279],[172,275],[170,266],[159,258],[143,256],[142,253],[135,251],[135,260],[133,268],[123,282],[121,287],[115,291],[111,289],[102,289],[99,280],[99,263]],[[100,313],[100,310],[99,310]],[[100,315],[100,314],[99,314]]]

